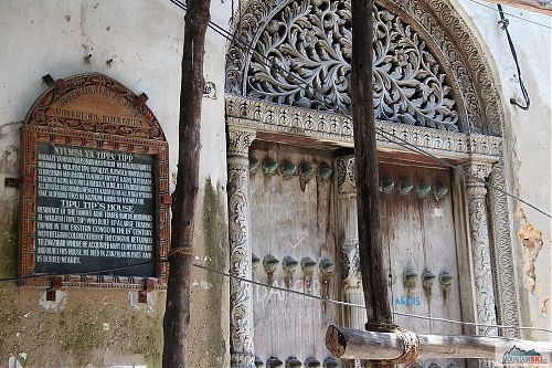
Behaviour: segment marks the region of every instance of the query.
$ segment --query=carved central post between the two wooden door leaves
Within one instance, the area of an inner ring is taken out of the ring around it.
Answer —
[[[360,274],[359,234],[357,221],[357,187],[354,185],[354,157],[337,159],[338,167],[338,241],[341,253],[343,299],[364,305],[362,277]],[[355,307],[343,309],[343,324],[350,328],[364,329],[365,311]],[[349,361],[348,367],[362,367],[360,360]]]

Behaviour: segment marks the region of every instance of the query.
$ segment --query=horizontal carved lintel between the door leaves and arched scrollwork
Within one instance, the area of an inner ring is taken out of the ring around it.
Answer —
[[[342,147],[353,146],[351,118],[342,114],[226,95],[226,119],[229,125],[250,127],[254,130],[301,136]],[[400,137],[404,140],[400,141],[401,144],[416,145],[440,158],[495,162],[502,155],[500,137],[468,135],[382,120],[376,122],[376,128]],[[411,153],[408,148],[385,139],[383,135],[378,135],[376,138],[380,149]]]

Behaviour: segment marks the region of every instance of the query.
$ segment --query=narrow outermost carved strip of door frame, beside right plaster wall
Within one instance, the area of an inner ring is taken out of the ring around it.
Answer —
[[[516,277],[514,254],[510,235],[510,219],[506,190],[503,162],[492,166],[489,188],[489,214],[492,233],[492,259],[497,296],[498,322],[501,325],[519,326],[519,293]],[[501,330],[503,336],[519,338],[519,330]]]

